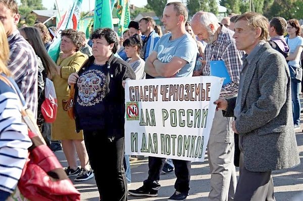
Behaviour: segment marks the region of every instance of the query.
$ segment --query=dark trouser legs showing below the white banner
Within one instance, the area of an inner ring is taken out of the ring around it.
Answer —
[[[154,181],[160,180],[160,173],[165,163],[165,158],[148,157],[148,178],[143,182],[145,186],[151,185]],[[175,182],[175,189],[179,192],[188,193],[190,181],[190,161],[175,160],[175,175],[177,180]]]

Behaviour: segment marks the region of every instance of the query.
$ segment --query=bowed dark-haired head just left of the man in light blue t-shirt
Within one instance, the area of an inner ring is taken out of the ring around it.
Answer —
[[[138,34],[134,34],[123,42],[123,47],[125,47],[125,52],[127,57],[132,57],[135,54],[140,55],[140,50],[142,48],[142,40]]]

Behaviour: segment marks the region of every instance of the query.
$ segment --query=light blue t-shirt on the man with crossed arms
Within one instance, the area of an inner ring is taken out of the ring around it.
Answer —
[[[186,60],[187,63],[175,77],[191,77],[197,56],[197,44],[188,33],[174,40],[170,39],[171,35],[163,35],[156,44],[154,51],[158,53],[157,58],[163,63],[170,62],[174,56]]]

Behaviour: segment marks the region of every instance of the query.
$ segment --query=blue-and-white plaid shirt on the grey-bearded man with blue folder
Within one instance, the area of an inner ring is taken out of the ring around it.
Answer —
[[[203,75],[210,75],[211,60],[223,60],[231,83],[222,87],[220,97],[228,97],[238,93],[239,75],[242,66],[241,58],[244,52],[237,50],[235,40],[232,38],[234,32],[224,26],[221,27],[222,29],[217,41],[213,44],[208,44],[205,48],[206,66],[203,69]]]

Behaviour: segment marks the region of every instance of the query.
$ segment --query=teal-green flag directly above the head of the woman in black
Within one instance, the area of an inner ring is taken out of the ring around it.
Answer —
[[[93,29],[98,28],[114,29],[111,0],[96,0],[95,2]]]

